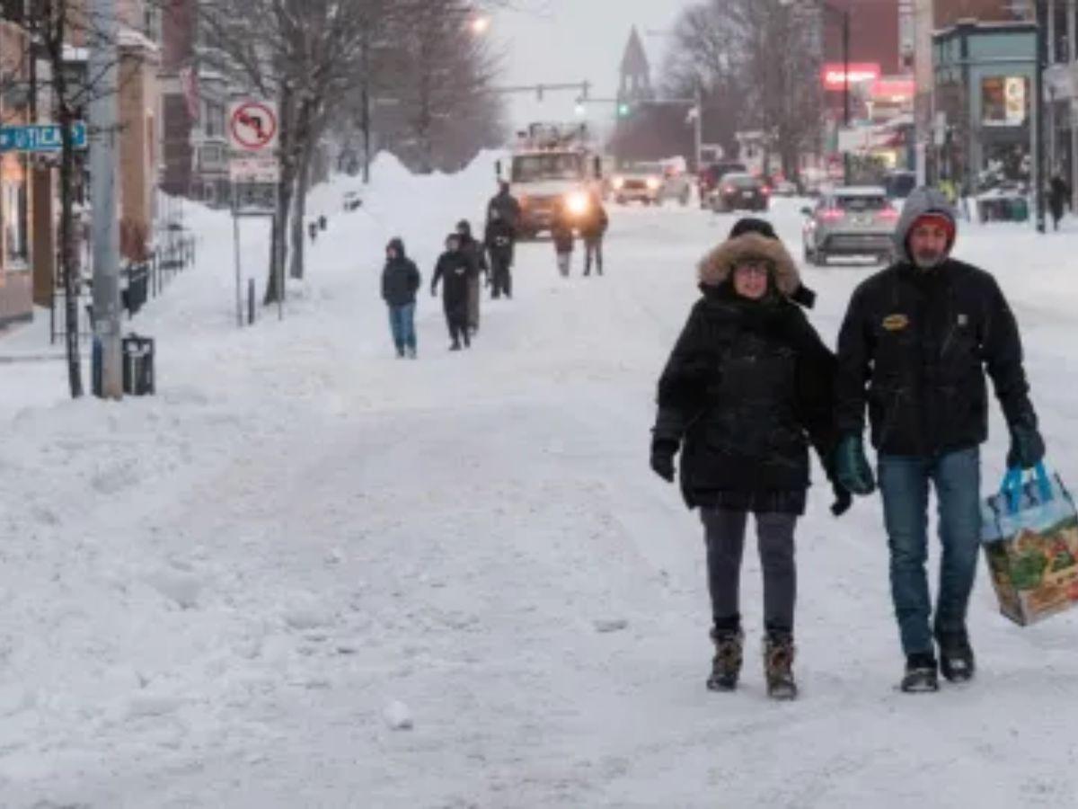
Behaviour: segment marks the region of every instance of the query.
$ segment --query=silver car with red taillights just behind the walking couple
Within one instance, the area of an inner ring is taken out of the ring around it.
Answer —
[[[801,212],[804,257],[811,264],[824,266],[832,256],[872,256],[882,262],[894,257],[899,211],[883,188],[838,188]]]

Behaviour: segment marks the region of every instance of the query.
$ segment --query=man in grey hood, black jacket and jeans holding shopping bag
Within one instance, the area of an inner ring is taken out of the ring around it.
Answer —
[[[861,439],[868,408],[892,597],[907,656],[906,691],[939,687],[937,646],[948,680],[973,676],[966,608],[981,538],[985,369],[1010,426],[1007,465],[1027,469],[1045,454],[1018,324],[991,275],[951,258],[956,228],[939,191],[915,190],[898,222],[898,263],[857,288],[839,337],[842,438],[835,466],[852,492],[872,493],[875,481]],[[943,546],[935,620],[925,573],[929,482],[939,501]]]

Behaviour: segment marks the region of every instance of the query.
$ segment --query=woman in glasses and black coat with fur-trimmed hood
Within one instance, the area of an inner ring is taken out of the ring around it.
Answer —
[[[808,445],[830,458],[834,356],[801,308],[797,265],[776,238],[736,231],[700,264],[703,297],[659,381],[651,466],[675,478],[705,526],[715,658],[708,688],[732,690],[744,634],[738,603],[748,515],[764,578],[765,674],[776,698],[797,695],[793,534],[805,510]],[[833,511],[843,512],[849,496]]]

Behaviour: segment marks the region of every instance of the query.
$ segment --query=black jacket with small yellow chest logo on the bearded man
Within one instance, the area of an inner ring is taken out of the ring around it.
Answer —
[[[854,292],[839,337],[838,426],[888,455],[928,457],[989,435],[984,369],[1009,424],[1036,425],[1018,325],[987,273],[949,259],[908,262]]]

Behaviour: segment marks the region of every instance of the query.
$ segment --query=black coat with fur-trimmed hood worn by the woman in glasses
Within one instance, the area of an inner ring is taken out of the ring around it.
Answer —
[[[771,258],[776,289],[738,297],[729,276],[745,255]],[[788,297],[799,286],[782,244],[732,239],[701,265],[692,310],[659,382],[654,441],[681,447],[690,507],[802,513],[810,441],[830,457],[834,356]]]

